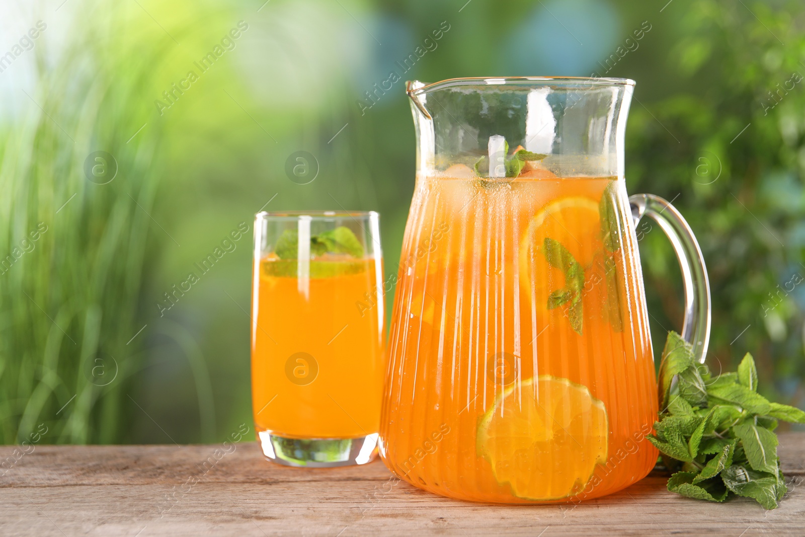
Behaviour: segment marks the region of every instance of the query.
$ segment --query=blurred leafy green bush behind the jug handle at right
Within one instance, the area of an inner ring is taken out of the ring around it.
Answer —
[[[714,372],[734,370],[750,351],[758,357],[762,389],[800,407],[803,8],[800,2],[698,1],[673,12],[668,87],[650,101],[638,89],[645,106],[638,103],[631,114],[626,174],[630,191],[676,198],[696,231],[713,303],[708,365]],[[673,254],[659,233],[646,239],[650,310],[662,309],[668,319],[662,324],[674,328],[679,284],[667,286],[669,279],[679,282]],[[664,336],[658,324],[654,341]]]

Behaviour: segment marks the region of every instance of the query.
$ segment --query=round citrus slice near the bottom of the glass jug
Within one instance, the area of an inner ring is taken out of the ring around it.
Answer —
[[[605,464],[609,423],[587,386],[543,375],[504,390],[478,421],[478,456],[518,498],[549,501],[579,494]]]

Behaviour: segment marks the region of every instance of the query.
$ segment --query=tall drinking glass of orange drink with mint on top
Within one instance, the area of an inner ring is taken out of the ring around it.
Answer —
[[[252,403],[271,461],[328,467],[376,456],[382,271],[378,213],[255,217]]]

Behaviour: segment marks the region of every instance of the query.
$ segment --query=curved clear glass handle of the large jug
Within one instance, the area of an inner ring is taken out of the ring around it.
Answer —
[[[685,288],[682,337],[693,345],[696,359],[704,363],[710,340],[710,282],[699,243],[687,221],[667,200],[653,194],[635,194],[629,203],[635,228],[642,217],[650,217],[674,247]]]

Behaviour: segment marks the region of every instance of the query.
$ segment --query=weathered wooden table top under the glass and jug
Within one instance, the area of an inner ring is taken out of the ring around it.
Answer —
[[[0,535],[805,535],[805,433],[780,435],[790,491],[771,511],[682,498],[654,473],[577,506],[492,506],[428,494],[380,461],[296,469],[265,461],[254,442],[229,451],[34,446],[0,469]],[[3,459],[13,452],[0,446]]]

